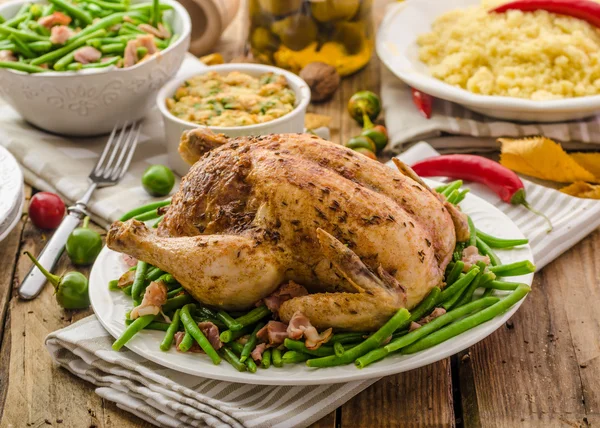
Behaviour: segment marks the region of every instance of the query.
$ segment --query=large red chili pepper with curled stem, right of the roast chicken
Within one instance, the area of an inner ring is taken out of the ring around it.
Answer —
[[[552,230],[550,219],[527,202],[519,176],[498,162],[475,155],[442,155],[417,162],[412,168],[423,177],[451,177],[484,184],[504,202],[523,205],[544,217],[550,226],[548,231]]]

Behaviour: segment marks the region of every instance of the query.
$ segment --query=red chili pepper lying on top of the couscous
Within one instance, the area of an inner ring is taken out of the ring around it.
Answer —
[[[498,6],[490,12],[500,13],[509,9],[518,9],[524,12],[545,10],[582,19],[596,27],[600,27],[600,4],[591,0],[516,0]]]

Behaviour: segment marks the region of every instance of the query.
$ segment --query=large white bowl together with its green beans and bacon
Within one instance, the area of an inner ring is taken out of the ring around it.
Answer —
[[[173,0],[17,0],[0,17],[0,96],[34,126],[72,136],[143,118],[191,33]]]

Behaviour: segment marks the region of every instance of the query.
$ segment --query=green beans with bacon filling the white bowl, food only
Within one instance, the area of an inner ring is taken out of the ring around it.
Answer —
[[[131,67],[178,35],[159,0],[48,0],[0,15],[0,68],[26,73]]]

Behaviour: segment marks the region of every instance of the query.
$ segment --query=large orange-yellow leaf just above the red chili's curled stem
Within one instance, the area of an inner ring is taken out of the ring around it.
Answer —
[[[500,138],[498,141],[502,143],[500,163],[513,171],[561,183],[595,181],[594,174],[549,138]]]

